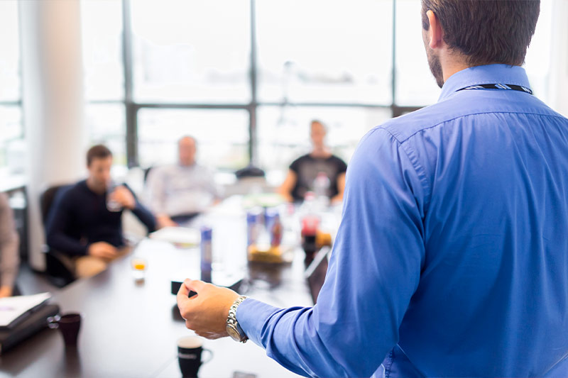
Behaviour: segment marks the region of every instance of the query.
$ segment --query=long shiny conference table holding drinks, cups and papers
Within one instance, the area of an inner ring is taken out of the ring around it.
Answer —
[[[214,225],[214,281],[217,273],[227,282],[244,277],[240,294],[279,307],[312,306],[299,246],[291,263],[250,263],[242,213],[218,211],[197,223]],[[133,277],[133,257],[147,261],[143,281]],[[194,333],[180,318],[171,281],[186,277],[200,278],[199,246],[180,248],[141,240],[131,255],[95,277],[70,284],[51,299],[61,313],[82,313],[76,350],[65,350],[58,330],[45,329],[1,355],[0,376],[180,377],[176,340]],[[204,348],[213,356],[202,365],[200,377],[297,377],[250,341],[204,340]]]

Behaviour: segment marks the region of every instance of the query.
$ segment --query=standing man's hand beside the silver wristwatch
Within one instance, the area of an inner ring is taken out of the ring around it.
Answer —
[[[190,291],[197,295],[187,298]],[[224,338],[229,335],[226,333],[229,308],[237,298],[239,294],[231,289],[185,279],[178,291],[178,308],[185,326],[195,330],[197,335],[209,339]]]

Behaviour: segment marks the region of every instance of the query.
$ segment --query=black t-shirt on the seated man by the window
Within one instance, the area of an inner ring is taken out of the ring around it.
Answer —
[[[312,157],[312,155],[303,155],[298,157],[290,165],[290,169],[295,172],[297,180],[292,196],[295,201],[302,201],[307,191],[314,190],[314,180],[317,174],[324,172],[329,179],[329,190],[327,196],[332,198],[339,191],[337,189],[337,177],[346,172],[347,165],[339,157],[331,155],[330,157]]]

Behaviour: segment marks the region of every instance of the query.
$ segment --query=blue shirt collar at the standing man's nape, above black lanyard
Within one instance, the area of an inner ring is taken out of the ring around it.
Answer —
[[[447,99],[455,91],[479,84],[516,84],[530,88],[523,67],[510,65],[485,65],[469,67],[452,74],[442,87],[438,101]]]

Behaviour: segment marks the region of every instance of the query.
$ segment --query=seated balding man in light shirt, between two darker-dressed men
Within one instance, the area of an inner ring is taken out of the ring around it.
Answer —
[[[212,172],[195,162],[195,138],[181,138],[178,152],[178,164],[155,167],[148,174],[148,204],[159,228],[179,226],[219,201]]]

